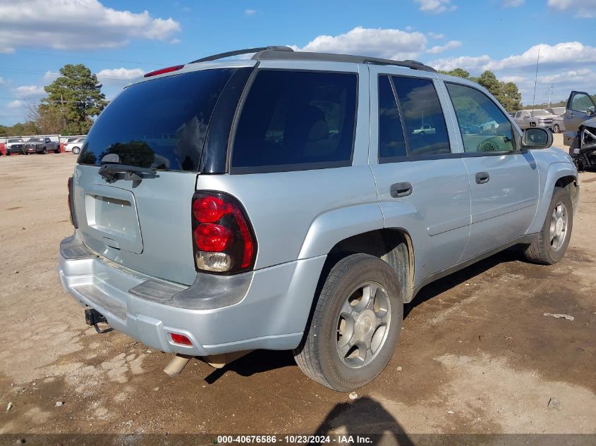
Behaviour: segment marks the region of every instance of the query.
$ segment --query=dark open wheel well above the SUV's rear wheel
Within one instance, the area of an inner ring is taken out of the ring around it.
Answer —
[[[357,253],[370,254],[386,261],[399,278],[403,302],[410,302],[413,297],[414,256],[412,240],[405,230],[373,230],[336,243],[327,255],[319,280],[320,287],[338,261]],[[317,292],[320,287],[317,287]]]

